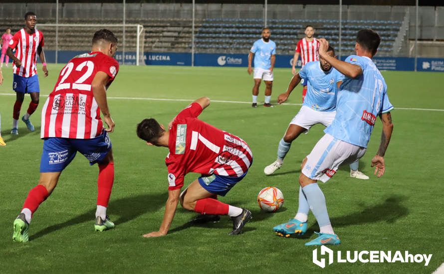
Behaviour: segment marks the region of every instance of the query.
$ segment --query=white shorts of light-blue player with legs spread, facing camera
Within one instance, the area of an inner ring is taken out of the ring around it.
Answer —
[[[330,126],[335,116],[336,111],[315,111],[307,106],[302,106],[290,124],[300,126],[308,131],[316,124]]]

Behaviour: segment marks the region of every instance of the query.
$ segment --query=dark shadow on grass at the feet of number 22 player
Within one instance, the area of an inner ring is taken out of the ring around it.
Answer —
[[[113,218],[112,221],[116,224],[116,226],[119,226],[139,217],[142,214],[154,212],[165,204],[166,199],[167,197],[165,194],[144,194],[112,201],[109,204],[110,208],[112,208],[110,213],[113,216],[119,216],[118,219]],[[96,210],[92,209],[63,223],[48,226],[33,234],[30,238],[34,240],[59,229],[84,222],[91,222],[91,225],[93,225],[95,212]]]

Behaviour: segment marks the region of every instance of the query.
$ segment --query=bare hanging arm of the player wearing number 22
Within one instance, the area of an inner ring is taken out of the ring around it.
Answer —
[[[99,106],[100,110],[102,111],[103,121],[108,126],[108,129],[105,129],[105,131],[112,133],[114,131],[115,124],[109,113],[108,103],[106,101],[106,86],[108,85],[108,82],[108,74],[103,71],[99,71],[92,80],[91,89],[94,99],[97,102],[97,106]]]

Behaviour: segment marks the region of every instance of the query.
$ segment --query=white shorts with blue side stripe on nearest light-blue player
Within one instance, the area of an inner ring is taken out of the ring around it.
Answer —
[[[328,181],[342,163],[352,163],[364,156],[367,148],[341,141],[326,134],[307,155],[302,173],[310,179]]]

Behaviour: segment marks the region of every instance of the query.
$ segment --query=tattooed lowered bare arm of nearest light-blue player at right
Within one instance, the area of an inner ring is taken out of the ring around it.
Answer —
[[[381,114],[380,118],[382,121],[381,143],[379,144],[378,152],[372,159],[372,167],[376,166],[375,175],[378,177],[381,177],[385,172],[384,155],[393,132],[392,115],[390,112]]]

